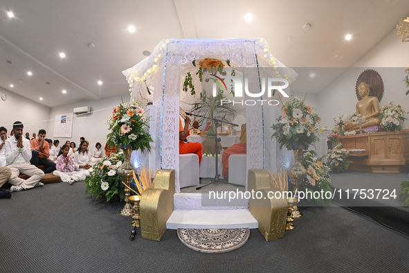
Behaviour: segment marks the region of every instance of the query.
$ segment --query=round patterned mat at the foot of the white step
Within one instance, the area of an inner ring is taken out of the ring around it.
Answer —
[[[178,229],[179,239],[197,252],[224,253],[244,245],[250,229]]]

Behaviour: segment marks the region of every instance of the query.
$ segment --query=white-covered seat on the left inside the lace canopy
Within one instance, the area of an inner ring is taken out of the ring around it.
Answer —
[[[199,186],[199,157],[196,154],[179,155],[179,186]]]

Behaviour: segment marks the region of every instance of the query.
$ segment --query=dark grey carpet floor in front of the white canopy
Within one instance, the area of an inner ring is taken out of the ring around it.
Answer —
[[[203,254],[175,230],[129,241],[122,203],[84,192],[57,183],[0,200],[0,272],[409,272],[408,236],[340,207],[304,208],[280,240],[252,229],[243,247]]]

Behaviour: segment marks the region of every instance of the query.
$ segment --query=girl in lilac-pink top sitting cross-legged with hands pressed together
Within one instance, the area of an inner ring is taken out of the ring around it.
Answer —
[[[60,154],[55,161],[57,170],[54,170],[53,175],[60,176],[62,182],[68,182],[72,185],[74,182],[84,180],[86,174],[75,170],[74,159],[69,155],[69,150],[68,145],[62,146]]]

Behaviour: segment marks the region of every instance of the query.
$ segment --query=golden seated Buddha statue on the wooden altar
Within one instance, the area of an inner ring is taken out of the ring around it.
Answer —
[[[361,114],[361,117],[365,117],[365,121],[362,121],[361,127],[365,129],[367,127],[378,126],[381,124],[379,118],[379,100],[376,97],[370,95],[370,87],[365,82],[361,82],[358,86],[359,95],[362,100],[356,103],[356,115]],[[343,127],[345,132],[359,130],[359,122],[347,123]]]

